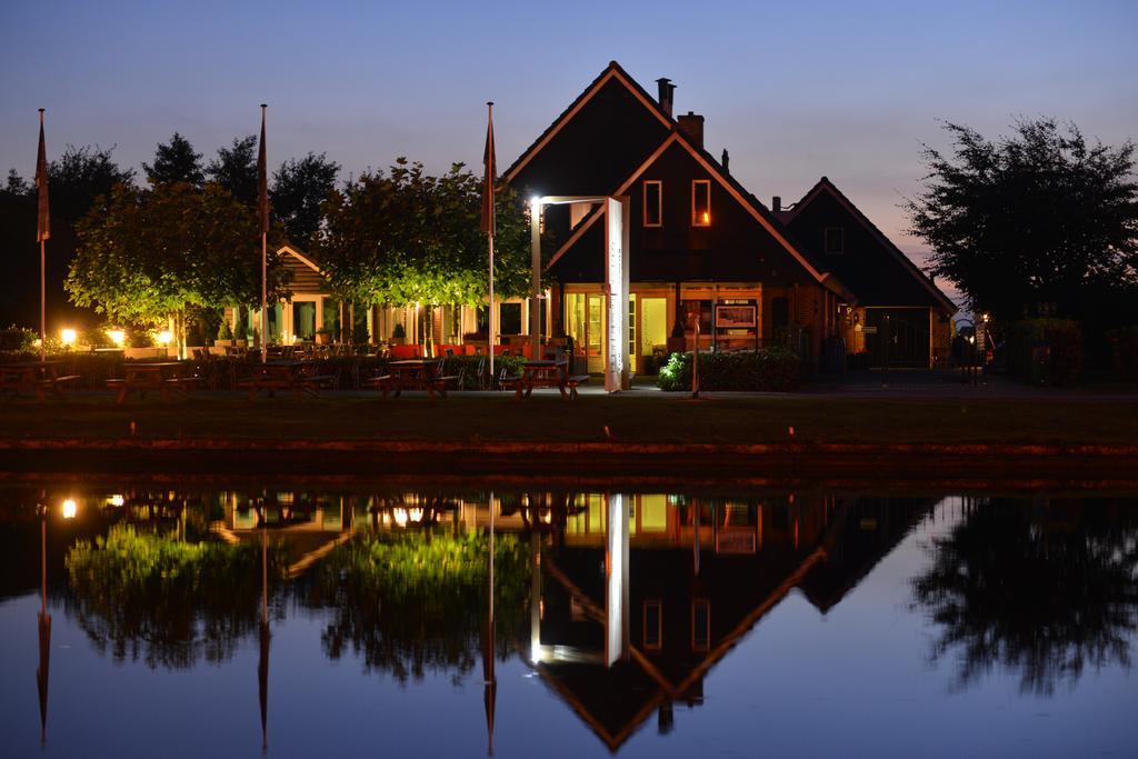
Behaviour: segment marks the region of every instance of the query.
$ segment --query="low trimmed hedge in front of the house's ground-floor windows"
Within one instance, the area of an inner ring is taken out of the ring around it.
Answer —
[[[786,348],[700,353],[700,389],[777,390],[798,387],[801,361]],[[674,353],[660,369],[657,385],[661,390],[688,390],[692,387],[692,354]]]

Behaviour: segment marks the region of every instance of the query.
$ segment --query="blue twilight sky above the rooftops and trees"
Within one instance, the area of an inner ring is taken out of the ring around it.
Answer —
[[[0,171],[31,176],[38,107],[67,143],[150,160],[178,130],[211,156],[269,109],[275,165],[327,151],[347,173],[396,156],[477,165],[495,100],[505,167],[610,59],[764,201],[826,174],[902,249],[898,204],[937,119],[1007,132],[1016,116],[1138,138],[1138,2],[119,2],[0,6]]]

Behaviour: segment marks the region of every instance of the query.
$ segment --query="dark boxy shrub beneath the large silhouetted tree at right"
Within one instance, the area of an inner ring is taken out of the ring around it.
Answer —
[[[1025,319],[1008,330],[1008,365],[1034,385],[1070,387],[1082,372],[1082,330],[1069,319]]]

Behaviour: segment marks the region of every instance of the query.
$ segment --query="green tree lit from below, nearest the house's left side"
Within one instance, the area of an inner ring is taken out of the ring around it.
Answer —
[[[488,291],[481,180],[462,164],[428,176],[398,158],[364,173],[324,205],[315,249],[332,290],[346,300],[477,305]],[[529,223],[517,192],[496,195],[495,294],[528,292]]]

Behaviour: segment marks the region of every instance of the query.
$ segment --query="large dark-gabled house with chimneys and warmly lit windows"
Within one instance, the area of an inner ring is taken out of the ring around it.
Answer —
[[[853,319],[869,317],[855,311],[858,292],[847,277],[860,284],[874,274],[847,271],[855,256],[824,254],[814,241],[814,214],[806,213],[810,204],[800,204],[798,229],[772,213],[731,174],[726,151],[716,159],[704,149],[703,116],[675,116],[675,85],[667,79],[657,85],[653,98],[610,63],[518,157],[505,181],[527,197],[627,200],[635,371],[696,344],[720,350],[783,344],[809,366],[841,365]],[[608,360],[604,213],[603,204],[582,201],[546,206],[542,218],[556,282],[549,331],[572,338],[575,358],[591,372]],[[861,230],[846,224],[852,241]],[[907,259],[879,256],[872,264],[882,262],[889,272],[879,273],[883,291],[873,291],[874,307],[908,306],[909,290],[935,290]],[[943,296],[926,299],[934,304],[929,308],[950,307]]]

